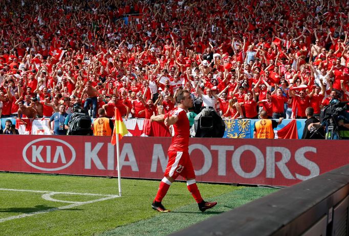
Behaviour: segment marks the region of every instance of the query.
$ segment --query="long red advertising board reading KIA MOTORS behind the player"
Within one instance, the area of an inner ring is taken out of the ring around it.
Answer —
[[[0,171],[117,176],[110,137],[1,135]],[[161,179],[171,138],[124,137],[121,177]],[[197,181],[290,186],[349,163],[345,140],[191,138]]]

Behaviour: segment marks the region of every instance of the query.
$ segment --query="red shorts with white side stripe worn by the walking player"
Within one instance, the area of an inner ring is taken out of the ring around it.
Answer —
[[[195,178],[195,172],[189,153],[168,151],[168,163],[165,176],[176,179],[179,175],[183,176],[185,179]]]

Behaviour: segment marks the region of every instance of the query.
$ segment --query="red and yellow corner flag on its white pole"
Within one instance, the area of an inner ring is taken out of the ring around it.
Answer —
[[[117,161],[117,169],[118,169],[118,185],[119,185],[119,197],[121,197],[121,173],[120,173],[120,145],[119,139],[122,138],[125,134],[128,133],[125,124],[122,121],[122,117],[118,108],[115,108],[115,124],[112,135],[111,143],[116,145],[116,161]]]

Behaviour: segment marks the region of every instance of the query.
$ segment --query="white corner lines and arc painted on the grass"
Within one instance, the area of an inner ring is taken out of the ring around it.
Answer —
[[[0,188],[0,191],[43,193],[43,195],[41,197],[43,199],[45,199],[45,200],[55,201],[55,202],[72,203],[72,204],[66,205],[66,206],[60,206],[60,207],[50,208],[50,209],[47,209],[47,210],[34,211],[33,213],[25,213],[25,214],[21,214],[21,215],[18,215],[18,216],[2,218],[2,219],[0,219],[0,223],[5,222],[5,221],[9,221],[9,220],[35,216],[35,215],[38,215],[38,214],[49,213],[49,212],[55,211],[55,210],[69,209],[69,208],[73,208],[73,207],[76,207],[76,206],[81,206],[81,205],[84,205],[84,204],[100,202],[100,201],[105,201],[105,200],[109,200],[109,199],[113,199],[113,198],[118,198],[119,197],[119,195],[82,194],[82,193],[50,192],[50,191],[38,191],[38,190],[14,190],[14,189],[11,189],[11,188]],[[71,202],[71,201],[63,201],[63,200],[57,200],[57,199],[51,198],[51,196],[55,195],[55,194],[71,194],[71,195],[86,195],[86,196],[101,196],[101,197],[104,196],[104,198],[99,198],[99,199],[95,199],[95,200],[91,200],[91,201],[85,201],[85,202]]]

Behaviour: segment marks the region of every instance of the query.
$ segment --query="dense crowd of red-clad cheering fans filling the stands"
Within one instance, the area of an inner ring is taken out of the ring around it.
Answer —
[[[347,1],[1,1],[1,117],[194,104],[306,118],[349,95]]]

